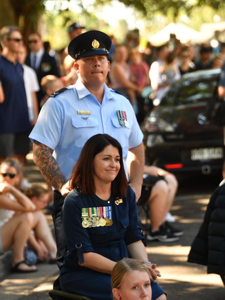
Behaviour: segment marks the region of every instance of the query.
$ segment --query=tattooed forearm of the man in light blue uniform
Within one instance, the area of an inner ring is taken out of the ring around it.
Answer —
[[[56,190],[60,191],[67,179],[62,174],[55,158],[52,156],[53,150],[42,143],[34,141],[33,160],[41,171],[44,179]]]

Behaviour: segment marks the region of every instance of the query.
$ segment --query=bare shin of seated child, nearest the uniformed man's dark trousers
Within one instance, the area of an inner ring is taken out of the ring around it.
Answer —
[[[33,215],[32,229],[35,232],[35,236],[38,240],[43,241],[49,250],[50,259],[55,259],[57,248],[46,217],[41,211],[35,211]]]

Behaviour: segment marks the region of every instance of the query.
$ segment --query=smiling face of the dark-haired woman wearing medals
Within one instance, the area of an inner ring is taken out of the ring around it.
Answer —
[[[94,182],[112,182],[120,169],[119,159],[119,150],[112,145],[106,146],[102,152],[95,155],[93,160]]]

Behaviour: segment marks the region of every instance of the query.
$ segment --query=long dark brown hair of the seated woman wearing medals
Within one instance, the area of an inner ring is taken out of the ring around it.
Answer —
[[[96,134],[87,140],[70,176],[71,189],[79,188],[80,192],[85,195],[95,194],[93,160],[95,155],[102,152],[109,145],[116,147],[120,155],[120,170],[112,182],[112,193],[115,197],[122,198],[126,196],[127,178],[123,166],[122,147],[116,139],[108,134]]]

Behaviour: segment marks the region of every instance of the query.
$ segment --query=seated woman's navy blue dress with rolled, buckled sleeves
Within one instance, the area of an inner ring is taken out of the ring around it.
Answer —
[[[126,245],[143,240],[137,213],[135,194],[128,187],[127,196],[118,205],[113,195],[108,200],[86,196],[72,190],[65,198],[62,223],[68,247],[60,268],[60,285],[63,291],[84,295],[93,300],[111,300],[110,275],[78,264],[83,253],[95,252],[115,262],[129,257]],[[117,202],[118,203],[118,202]],[[82,226],[82,208],[112,207],[112,226]],[[152,300],[165,293],[156,282],[151,283]]]

